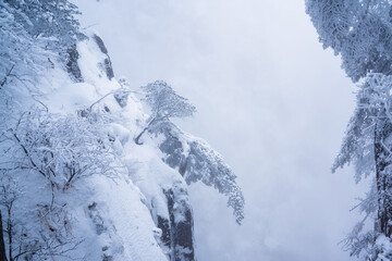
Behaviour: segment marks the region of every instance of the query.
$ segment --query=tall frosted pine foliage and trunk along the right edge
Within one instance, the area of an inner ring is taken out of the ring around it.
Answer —
[[[332,171],[354,163],[357,182],[370,174],[375,181],[358,204],[365,217],[346,238],[346,248],[366,260],[391,258],[391,1],[306,0],[306,12],[323,48],[340,54],[346,74],[360,83],[357,108]],[[363,232],[369,217],[373,228]]]

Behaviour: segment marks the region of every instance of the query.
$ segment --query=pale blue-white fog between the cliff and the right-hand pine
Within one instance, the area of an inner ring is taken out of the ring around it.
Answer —
[[[199,261],[351,260],[338,243],[365,190],[330,173],[354,110],[354,85],[322,50],[304,0],[75,0],[115,76],[156,79],[194,103],[179,121],[234,169],[246,200],[237,226],[226,199],[189,189]]]

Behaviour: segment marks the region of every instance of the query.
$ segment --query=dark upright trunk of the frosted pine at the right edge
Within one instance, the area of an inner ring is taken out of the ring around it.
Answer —
[[[391,237],[392,234],[392,179],[390,173],[391,154],[384,140],[392,133],[392,124],[379,122],[375,128],[375,161],[378,211],[375,224],[376,232]]]

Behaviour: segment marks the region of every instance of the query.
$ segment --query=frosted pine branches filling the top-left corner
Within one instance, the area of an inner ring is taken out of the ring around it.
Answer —
[[[0,88],[11,82],[35,92],[36,78],[60,60],[81,80],[76,42],[85,36],[66,0],[0,1]]]

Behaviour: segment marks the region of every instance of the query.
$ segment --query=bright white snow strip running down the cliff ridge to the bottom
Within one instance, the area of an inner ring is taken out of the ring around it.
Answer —
[[[77,50],[81,53],[79,66],[83,77],[86,83],[94,85],[96,97],[120,88],[117,80],[109,80],[97,66],[105,55],[95,41],[83,41]],[[90,94],[87,95],[94,97]],[[119,147],[123,149],[121,154],[127,172],[114,182],[108,181],[105,176],[91,176],[90,188],[94,188],[95,195],[90,199],[97,202],[97,209],[102,212],[102,215],[105,214],[112,226],[108,237],[112,241],[105,244],[107,246],[114,244],[119,246],[118,249],[122,249],[117,251],[118,259],[115,260],[167,260],[156,239],[159,228],[156,227],[150,214],[154,209],[151,202],[155,202],[155,207],[160,206],[162,209],[166,202],[162,201],[160,187],[154,184],[155,179],[149,176],[151,173],[161,174],[166,171],[166,165],[157,161],[156,167],[150,167],[150,159],[156,157],[154,148],[135,146],[132,133],[135,132],[135,120],[140,115],[142,105],[137,104],[136,99],[132,97],[130,99],[132,99],[130,107],[124,109],[119,107],[112,96],[102,100],[113,115],[120,112],[119,119],[115,116],[113,119],[119,122],[108,124],[108,134],[120,141]],[[133,181],[136,181],[136,186]],[[158,210],[158,212],[164,212],[164,210]]]

